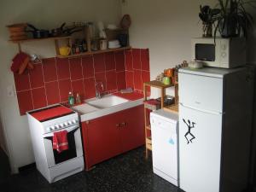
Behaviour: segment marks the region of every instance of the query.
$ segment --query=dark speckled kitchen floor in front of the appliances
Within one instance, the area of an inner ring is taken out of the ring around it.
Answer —
[[[137,148],[97,165],[90,172],[80,172],[49,184],[32,167],[9,178],[8,192],[177,192],[171,183],[152,172],[152,161],[144,159],[144,148]],[[2,187],[3,189],[3,187]],[[1,190],[2,191],[2,190]]]

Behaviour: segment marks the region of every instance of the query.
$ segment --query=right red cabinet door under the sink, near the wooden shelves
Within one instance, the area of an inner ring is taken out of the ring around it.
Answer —
[[[145,144],[143,105],[120,112],[119,121],[125,123],[119,127],[123,152]]]

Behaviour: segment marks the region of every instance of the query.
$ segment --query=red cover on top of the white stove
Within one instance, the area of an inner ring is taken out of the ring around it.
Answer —
[[[62,105],[55,105],[48,108],[40,108],[38,110],[29,112],[35,119],[40,122],[44,122],[50,119],[56,119],[68,114],[75,113],[72,109],[64,107]]]

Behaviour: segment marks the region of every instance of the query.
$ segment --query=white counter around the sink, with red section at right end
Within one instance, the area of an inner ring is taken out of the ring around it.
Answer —
[[[101,102],[103,103],[105,98],[111,97],[111,96],[118,96],[120,98],[125,99],[123,103],[120,104],[114,104],[113,106],[107,107],[107,108],[98,108],[94,105],[89,104],[88,102]],[[102,96],[101,99],[93,98],[90,100],[86,100],[85,103],[73,107],[73,110],[79,112],[80,120],[81,122],[90,120],[90,119],[96,119],[105,115],[108,115],[110,113],[116,113],[122,110],[125,110],[127,108],[134,108],[138,105],[143,104],[143,94],[139,93],[114,93],[112,95]]]

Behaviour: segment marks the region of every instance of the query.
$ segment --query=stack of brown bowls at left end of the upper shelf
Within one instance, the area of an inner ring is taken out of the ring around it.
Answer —
[[[7,26],[9,28],[10,40],[18,41],[24,40],[26,36],[26,23],[18,23],[14,25]]]

